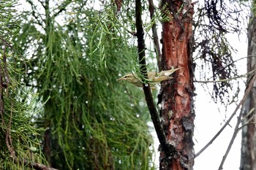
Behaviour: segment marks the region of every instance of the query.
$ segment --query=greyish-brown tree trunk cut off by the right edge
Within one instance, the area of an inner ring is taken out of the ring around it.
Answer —
[[[256,69],[256,18],[251,20],[248,29],[248,60],[247,72]],[[247,82],[252,78],[249,76]],[[243,112],[244,121],[242,129],[241,142],[241,170],[256,170],[256,115],[255,111],[249,114],[250,110],[256,106],[256,82],[252,86],[249,96],[241,112]]]

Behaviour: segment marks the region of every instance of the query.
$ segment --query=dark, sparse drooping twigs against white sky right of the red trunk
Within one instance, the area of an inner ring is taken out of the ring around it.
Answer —
[[[210,90],[212,98],[225,105],[236,101],[234,98],[238,97],[240,90],[238,82],[227,81],[233,80],[238,74],[233,58],[237,49],[232,47],[227,37],[246,31],[248,5],[246,1],[206,0],[195,13],[193,48],[201,73],[197,80],[213,82],[213,90]],[[230,93],[235,87],[237,91]]]

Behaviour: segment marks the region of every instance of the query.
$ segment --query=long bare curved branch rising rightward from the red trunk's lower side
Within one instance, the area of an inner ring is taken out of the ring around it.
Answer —
[[[195,154],[195,158],[200,155],[204,150],[206,150],[206,148],[208,146],[210,146],[210,144],[212,144],[212,142],[214,142],[215,139],[217,139],[217,137],[219,136],[219,134],[222,133],[222,131],[226,128],[226,126],[230,123],[230,120],[232,120],[232,118],[236,115],[236,112],[238,111],[239,107],[241,107],[241,105],[244,104],[244,101],[246,100],[246,97],[248,96],[250,90],[252,89],[252,85],[256,80],[256,74],[254,74],[254,77],[252,77],[252,79],[249,82],[248,88],[246,88],[246,91],[244,93],[244,97],[241,99],[241,101],[239,102],[239,104],[237,105],[236,109],[234,110],[233,114],[230,116],[230,118],[227,120],[227,122],[225,123],[225,125],[222,126],[222,128],[217,132],[217,134],[210,140],[210,142],[208,142],[206,144],[205,147],[203,147],[199,152],[197,152],[197,154]],[[240,116],[240,115],[239,115]]]

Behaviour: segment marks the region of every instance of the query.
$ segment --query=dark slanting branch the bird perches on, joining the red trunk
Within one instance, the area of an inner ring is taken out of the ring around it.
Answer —
[[[148,79],[147,69],[146,69],[146,58],[145,58],[145,39],[144,39],[144,31],[143,31],[143,23],[142,23],[142,9],[141,9],[141,1],[136,0],[135,1],[135,18],[136,18],[136,29],[137,29],[137,38],[138,38],[138,58],[140,63],[140,72],[143,75],[143,79]],[[143,82],[144,82],[143,80]],[[143,91],[146,98],[146,103],[148,105],[148,110],[151,115],[151,119],[154,124],[154,128],[157,132],[157,137],[159,139],[159,143],[161,144],[161,147],[163,150],[165,150],[166,155],[170,155],[170,152],[175,152],[176,149],[170,145],[167,144],[166,136],[164,134],[164,131],[162,129],[162,125],[159,120],[157,108],[155,107],[154,100],[151,93],[150,85],[146,85],[143,83]]]

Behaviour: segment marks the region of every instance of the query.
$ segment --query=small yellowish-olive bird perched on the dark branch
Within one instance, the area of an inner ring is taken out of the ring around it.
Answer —
[[[178,68],[178,69],[181,69],[181,68]],[[176,72],[176,70],[178,69],[170,69],[162,72],[148,72],[147,82],[150,85],[154,85],[164,80],[170,80],[173,78],[173,77],[170,77],[170,74],[173,74],[173,72]],[[127,74],[124,77],[121,77],[120,79],[118,79],[117,81],[120,81],[120,80],[126,80],[127,82],[131,82],[133,85],[136,85],[140,88],[143,87],[143,81],[135,74]],[[153,86],[152,89],[154,88],[155,87]]]

